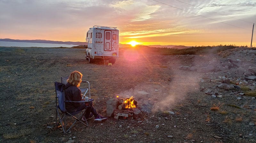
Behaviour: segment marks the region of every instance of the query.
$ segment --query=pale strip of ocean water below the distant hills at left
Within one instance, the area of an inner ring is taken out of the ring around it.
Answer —
[[[78,45],[0,41],[0,46],[2,47],[45,47],[45,48],[68,47],[70,48]]]

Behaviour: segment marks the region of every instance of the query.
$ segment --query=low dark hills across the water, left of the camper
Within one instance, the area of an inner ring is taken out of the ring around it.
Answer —
[[[50,44],[68,44],[68,45],[87,45],[87,42],[71,42],[71,41],[50,41],[50,40],[14,40],[14,39],[0,39],[6,42],[28,42],[28,43],[50,43]]]

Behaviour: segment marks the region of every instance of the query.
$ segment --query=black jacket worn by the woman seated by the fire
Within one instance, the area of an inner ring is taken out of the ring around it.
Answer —
[[[66,92],[65,92],[65,100],[66,101],[81,101],[82,95],[80,88],[76,86],[72,86],[71,84],[67,83],[65,85]],[[80,103],[75,102],[66,102],[66,110],[69,112],[75,111],[76,108],[80,106]]]

